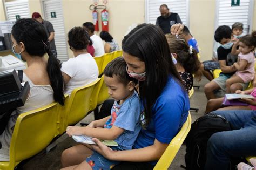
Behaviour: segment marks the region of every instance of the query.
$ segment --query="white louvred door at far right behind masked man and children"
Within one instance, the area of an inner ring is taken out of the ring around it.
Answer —
[[[231,26],[235,22],[244,24],[244,33],[252,32],[252,17],[254,0],[240,0],[239,6],[231,6],[231,0],[216,0],[215,30],[218,26]],[[214,40],[213,55],[217,58],[217,48],[220,46]]]

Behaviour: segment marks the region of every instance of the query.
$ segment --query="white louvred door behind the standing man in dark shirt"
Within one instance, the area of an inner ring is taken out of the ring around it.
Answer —
[[[178,13],[182,23],[189,27],[189,1],[188,0],[146,0],[145,1],[145,21],[156,24],[157,17],[160,16],[159,7],[166,4],[171,12]]]

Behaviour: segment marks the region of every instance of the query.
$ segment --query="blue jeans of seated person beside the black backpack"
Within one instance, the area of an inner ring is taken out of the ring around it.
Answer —
[[[214,111],[233,125],[233,131],[214,133],[207,142],[205,169],[228,169],[230,157],[256,155],[256,111]]]

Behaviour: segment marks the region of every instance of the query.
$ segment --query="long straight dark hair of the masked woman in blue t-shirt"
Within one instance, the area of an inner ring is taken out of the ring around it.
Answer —
[[[163,91],[169,76],[181,86],[183,83],[172,62],[163,31],[152,24],[141,24],[122,40],[122,49],[145,62],[146,80],[139,82],[139,94],[145,102],[145,120],[150,123],[152,106]],[[183,86],[184,92],[185,88]]]

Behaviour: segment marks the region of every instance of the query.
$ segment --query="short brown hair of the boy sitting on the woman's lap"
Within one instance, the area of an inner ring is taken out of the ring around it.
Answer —
[[[130,77],[126,71],[126,62],[123,57],[117,57],[113,59],[104,69],[103,74],[107,77],[117,76],[117,79],[120,83],[127,85],[130,81],[133,81],[137,84],[137,80]]]

